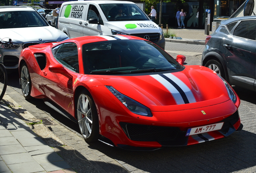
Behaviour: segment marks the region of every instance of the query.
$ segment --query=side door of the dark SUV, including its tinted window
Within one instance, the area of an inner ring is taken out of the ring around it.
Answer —
[[[224,53],[229,70],[230,84],[254,90],[256,20],[242,20],[231,30],[233,36],[222,39],[221,52]]]

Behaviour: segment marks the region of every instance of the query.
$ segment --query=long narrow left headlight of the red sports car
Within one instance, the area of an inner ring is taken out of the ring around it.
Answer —
[[[145,107],[144,105],[134,101],[130,97],[127,97],[120,92],[118,92],[116,89],[114,89],[111,86],[105,86],[107,89],[114,95],[120,102],[124,104],[125,107],[127,107],[132,113],[143,115],[146,117],[153,117],[151,111],[149,108]]]

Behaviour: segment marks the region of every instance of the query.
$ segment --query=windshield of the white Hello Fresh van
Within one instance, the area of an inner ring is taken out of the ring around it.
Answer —
[[[150,20],[136,4],[100,4],[108,21]]]

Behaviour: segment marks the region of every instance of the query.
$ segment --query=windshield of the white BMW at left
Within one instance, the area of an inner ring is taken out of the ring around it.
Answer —
[[[48,26],[35,11],[0,12],[0,29]]]

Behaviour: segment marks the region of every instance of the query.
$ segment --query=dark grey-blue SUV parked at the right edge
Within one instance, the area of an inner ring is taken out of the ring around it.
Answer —
[[[202,65],[229,84],[256,91],[256,16],[230,18],[206,37]]]

